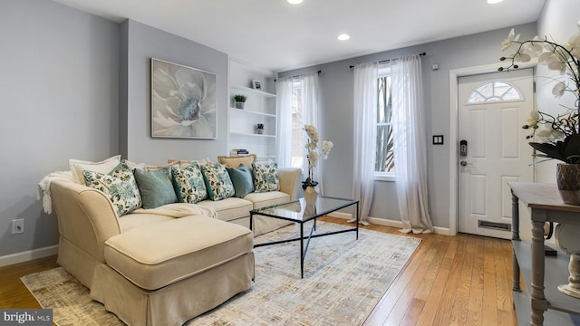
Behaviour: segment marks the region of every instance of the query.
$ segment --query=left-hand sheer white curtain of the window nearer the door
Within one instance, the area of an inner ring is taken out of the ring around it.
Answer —
[[[369,224],[374,192],[378,74],[377,62],[354,66],[353,198],[359,200],[359,219],[363,225]]]

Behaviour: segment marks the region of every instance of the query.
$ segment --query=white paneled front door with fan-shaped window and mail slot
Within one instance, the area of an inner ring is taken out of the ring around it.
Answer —
[[[534,108],[533,71],[459,78],[459,232],[511,238],[508,182],[533,182],[522,129]],[[465,155],[464,155],[465,154]]]

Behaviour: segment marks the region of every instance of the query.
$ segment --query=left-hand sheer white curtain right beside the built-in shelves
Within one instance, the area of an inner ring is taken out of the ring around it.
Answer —
[[[292,82],[292,77],[275,81],[276,161],[278,167],[292,165]]]

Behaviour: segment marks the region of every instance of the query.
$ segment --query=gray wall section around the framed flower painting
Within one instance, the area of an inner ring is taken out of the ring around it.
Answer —
[[[213,158],[227,154],[227,54],[135,21],[121,24],[121,154],[136,162],[167,163],[168,158]],[[150,59],[157,58],[216,74],[217,139],[150,137]],[[126,98],[125,98],[126,97]]]

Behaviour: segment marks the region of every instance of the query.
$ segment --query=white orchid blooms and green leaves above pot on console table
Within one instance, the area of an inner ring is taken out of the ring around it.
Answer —
[[[580,30],[580,22],[578,22]],[[574,34],[568,43],[560,44],[547,37],[534,37],[531,40],[519,41],[519,34],[516,35],[512,29],[507,39],[501,45],[501,50],[506,51],[512,45],[517,45],[516,53],[511,56],[501,57],[500,61],[510,62],[507,67],[500,67],[498,70],[507,71],[517,69],[518,62],[530,62],[532,58],[537,58],[537,62],[545,64],[549,70],[566,75],[565,80],[557,80],[552,89],[552,94],[556,98],[561,98],[565,91],[571,91],[575,95],[575,107],[566,108],[566,112],[553,116],[545,112],[533,110],[528,118],[524,129],[531,129],[531,134],[527,139],[534,136],[544,142],[530,142],[537,151],[543,154],[536,154],[538,157],[555,158],[565,163],[580,163],[580,124],[578,115],[580,114],[580,32]],[[544,128],[538,130],[540,126]]]

